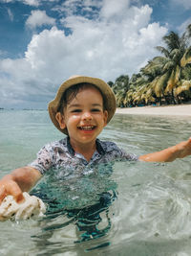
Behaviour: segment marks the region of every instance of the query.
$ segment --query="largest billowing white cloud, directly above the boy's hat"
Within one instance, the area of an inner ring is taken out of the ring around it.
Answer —
[[[145,59],[156,56],[155,47],[161,45],[167,29],[149,23],[152,9],[130,7],[122,0],[123,5],[116,3],[117,12],[112,7],[106,13],[108,3],[102,2],[96,19],[71,14],[62,20],[70,35],[54,26],[32,36],[25,58],[0,60],[4,104],[11,99],[13,104],[26,105],[31,100],[34,107],[39,99],[38,105],[45,106],[57,86],[74,74],[115,81],[121,74],[138,72]],[[42,19],[34,18],[30,24],[39,26]]]

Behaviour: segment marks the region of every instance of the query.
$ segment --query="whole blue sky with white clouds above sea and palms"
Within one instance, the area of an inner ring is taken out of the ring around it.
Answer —
[[[74,74],[138,73],[190,11],[190,0],[0,0],[0,107],[46,108]]]

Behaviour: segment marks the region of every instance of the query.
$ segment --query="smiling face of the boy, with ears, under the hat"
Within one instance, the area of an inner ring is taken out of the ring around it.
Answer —
[[[68,129],[72,145],[95,143],[107,124],[108,112],[103,110],[102,95],[91,85],[80,89],[63,112],[56,114],[56,120],[60,128]]]

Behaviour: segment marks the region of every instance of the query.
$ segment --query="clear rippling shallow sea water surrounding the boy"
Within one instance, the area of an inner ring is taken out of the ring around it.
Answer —
[[[116,115],[100,138],[139,155],[187,139],[190,128],[189,118]],[[0,177],[60,138],[47,111],[0,111]],[[52,173],[32,193],[46,217],[0,222],[0,255],[191,255],[190,157],[115,162],[59,181]]]

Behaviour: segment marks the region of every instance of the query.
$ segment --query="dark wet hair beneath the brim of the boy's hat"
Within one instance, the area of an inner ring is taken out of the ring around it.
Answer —
[[[74,84],[73,86],[69,87],[68,89],[66,89],[66,91],[63,93],[60,102],[59,102],[59,106],[57,108],[57,112],[63,113],[64,107],[66,107],[68,104],[70,104],[71,101],[73,101],[73,99],[76,97],[77,93],[81,90],[84,89],[85,87],[88,86],[94,86],[101,94],[102,98],[103,98],[103,110],[105,110],[105,105],[104,105],[104,96],[102,94],[102,92],[100,91],[100,89],[98,87],[96,87],[96,85],[94,85],[93,83],[88,83],[88,82],[80,82],[77,84]]]

